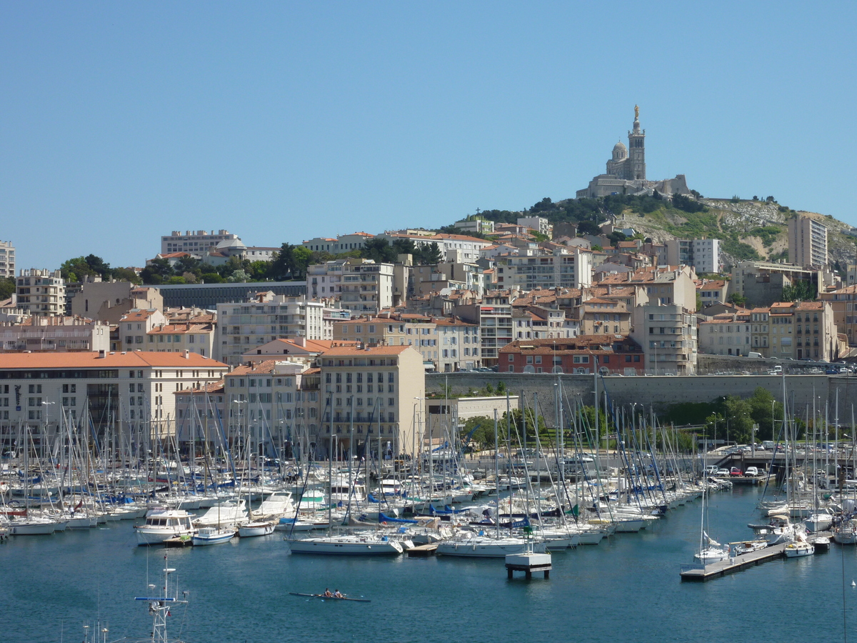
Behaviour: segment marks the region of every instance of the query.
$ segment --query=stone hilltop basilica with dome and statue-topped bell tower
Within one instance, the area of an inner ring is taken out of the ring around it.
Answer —
[[[630,150],[630,152],[629,152]],[[640,129],[640,110],[634,105],[633,129],[628,132],[628,147],[622,141],[613,147],[613,158],[607,162],[607,173],[590,181],[589,187],[578,189],[577,198],[607,195],[689,195],[684,174],[663,181],[647,181],[645,177],[645,129]]]

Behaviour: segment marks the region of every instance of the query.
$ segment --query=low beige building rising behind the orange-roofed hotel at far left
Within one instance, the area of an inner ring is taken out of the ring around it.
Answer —
[[[110,325],[85,317],[27,317],[0,322],[0,352],[80,352],[110,350]]]

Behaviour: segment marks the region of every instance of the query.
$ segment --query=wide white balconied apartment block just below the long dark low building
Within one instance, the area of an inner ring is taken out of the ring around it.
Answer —
[[[244,352],[283,337],[327,340],[333,337],[336,309],[307,297],[259,293],[255,302],[219,303],[215,358],[230,366],[242,361]],[[348,315],[347,311],[345,315]]]

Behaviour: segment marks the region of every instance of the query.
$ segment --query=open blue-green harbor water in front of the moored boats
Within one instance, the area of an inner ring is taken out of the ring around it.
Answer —
[[[709,533],[749,539],[760,490],[710,499]],[[281,532],[197,549],[136,546],[129,521],[0,544],[4,643],[146,636],[148,584],[164,556],[188,593],[171,638],[243,641],[857,640],[857,548],[775,560],[706,583],[682,583],[698,548],[699,501],[638,534],[554,553],[549,580],[506,579],[501,559],[291,555]],[[371,603],[288,592],[339,589]],[[90,630],[91,631],[91,630]]]

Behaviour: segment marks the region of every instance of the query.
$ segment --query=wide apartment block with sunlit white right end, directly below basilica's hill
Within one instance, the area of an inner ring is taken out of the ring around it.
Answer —
[[[577,246],[554,249],[550,254],[512,256],[506,259],[503,284],[534,288],[581,288],[592,284],[592,253]],[[499,278],[498,278],[499,281]]]

